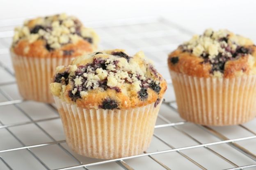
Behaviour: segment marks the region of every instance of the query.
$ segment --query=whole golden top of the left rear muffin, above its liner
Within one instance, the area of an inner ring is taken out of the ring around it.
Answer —
[[[14,31],[11,51],[27,57],[70,57],[95,51],[97,34],[65,13],[24,22]]]

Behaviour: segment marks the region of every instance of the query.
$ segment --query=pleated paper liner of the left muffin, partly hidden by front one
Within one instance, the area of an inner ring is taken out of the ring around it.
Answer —
[[[11,52],[19,92],[24,99],[53,103],[49,84],[59,65],[69,65],[73,58],[37,58]]]

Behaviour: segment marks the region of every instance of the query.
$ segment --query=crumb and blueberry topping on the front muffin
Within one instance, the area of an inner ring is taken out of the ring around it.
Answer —
[[[68,96],[73,102],[87,98],[95,90],[114,90],[112,93],[122,93],[131,99],[136,97],[144,101],[149,97],[149,90],[158,95],[160,82],[164,81],[153,65],[144,59],[143,52],[128,56],[123,50],[100,51],[78,57],[71,64],[57,68],[50,86],[54,95],[59,91],[56,96],[60,97],[64,95],[63,87],[69,86]],[[54,85],[56,83],[62,86]],[[98,108],[118,109],[120,106],[114,98],[105,96]]]

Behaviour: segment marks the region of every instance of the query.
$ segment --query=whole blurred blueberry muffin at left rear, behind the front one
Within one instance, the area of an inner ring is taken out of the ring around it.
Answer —
[[[39,17],[15,28],[11,56],[21,96],[53,102],[49,83],[58,65],[95,51],[98,36],[73,16]]]

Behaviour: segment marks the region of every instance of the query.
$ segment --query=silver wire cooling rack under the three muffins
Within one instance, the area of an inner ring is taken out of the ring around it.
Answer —
[[[167,54],[192,32],[159,17],[85,22],[101,37],[101,49],[142,50],[166,78],[169,88],[149,149],[112,160],[72,152],[55,105],[25,101],[18,93],[9,47],[12,30],[22,21],[0,20],[0,170],[256,170],[256,119],[209,127],[178,116]]]

